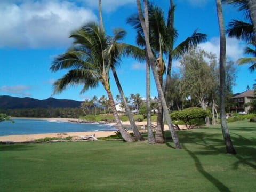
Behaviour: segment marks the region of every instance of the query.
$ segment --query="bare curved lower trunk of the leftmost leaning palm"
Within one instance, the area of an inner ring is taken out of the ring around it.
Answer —
[[[115,120],[116,120],[116,124],[117,124],[117,129],[120,131],[123,139],[127,142],[134,142],[136,141],[136,138],[135,137],[131,137],[130,134],[128,134],[125,130],[124,130],[124,127],[118,117],[118,114],[117,114],[117,110],[116,110],[116,106],[115,106],[115,102],[114,102],[114,99],[113,99],[113,96],[112,96],[112,93],[110,91],[110,89],[106,89],[107,91],[107,94],[108,94],[108,99],[109,99],[109,102],[110,102],[110,105],[111,105],[111,109],[113,111],[113,115],[115,117]]]

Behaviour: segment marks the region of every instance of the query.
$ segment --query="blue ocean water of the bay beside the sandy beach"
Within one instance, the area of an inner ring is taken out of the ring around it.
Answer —
[[[0,136],[17,134],[65,133],[84,131],[116,131],[115,126],[108,124],[69,123],[66,121],[44,121],[13,119],[14,123],[0,123]]]

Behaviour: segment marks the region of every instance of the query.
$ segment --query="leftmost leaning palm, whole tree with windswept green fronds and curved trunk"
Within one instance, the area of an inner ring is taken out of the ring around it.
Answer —
[[[112,63],[108,50],[112,38],[106,36],[105,32],[94,22],[73,31],[70,37],[74,38],[73,46],[55,58],[50,67],[53,72],[69,69],[63,77],[54,82],[54,93],[62,92],[68,85],[76,86],[78,84],[83,85],[81,91],[83,93],[101,83],[107,92],[117,128],[123,139],[129,142],[135,141],[136,139],[124,130],[110,91],[109,70]]]

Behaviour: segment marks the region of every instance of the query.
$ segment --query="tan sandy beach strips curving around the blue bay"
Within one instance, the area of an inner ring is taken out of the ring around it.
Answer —
[[[44,121],[78,121],[78,119],[73,118],[18,118],[15,119],[37,119],[37,120],[44,120]],[[130,122],[122,122],[123,125],[130,125]],[[146,125],[147,122],[136,122],[138,127]],[[154,123],[153,123],[154,124]],[[89,136],[94,135],[95,137],[107,137],[109,135],[114,135],[114,131],[92,131],[92,132],[67,132],[65,135],[63,133],[62,136]],[[13,142],[25,142],[25,141],[33,141],[35,139],[41,139],[45,137],[60,137],[60,133],[44,133],[44,134],[26,134],[26,135],[7,135],[7,136],[0,136],[0,141],[13,141]]]

